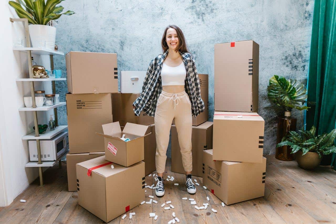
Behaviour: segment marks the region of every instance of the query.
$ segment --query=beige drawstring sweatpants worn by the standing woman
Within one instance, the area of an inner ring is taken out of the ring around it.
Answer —
[[[184,170],[186,172],[193,170],[193,157],[191,152],[193,119],[189,96],[185,91],[180,93],[167,93],[162,91],[156,104],[154,116],[156,136],[155,164],[156,172],[158,173],[165,171],[166,152],[173,119],[175,119]]]

